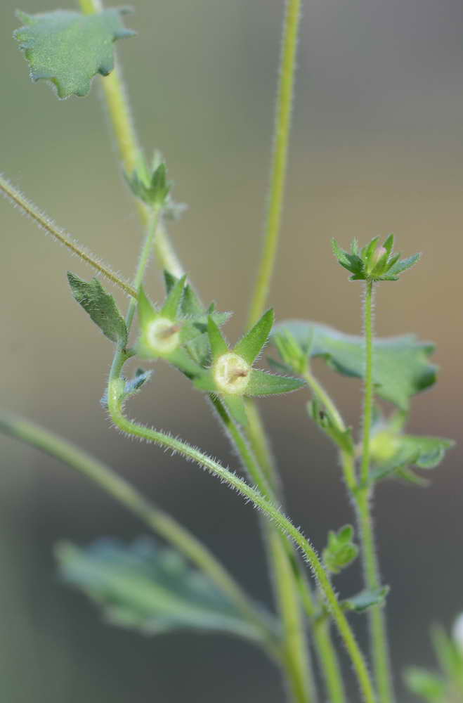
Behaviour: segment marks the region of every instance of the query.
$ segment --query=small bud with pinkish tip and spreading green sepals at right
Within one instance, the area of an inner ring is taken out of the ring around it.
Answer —
[[[374,237],[361,250],[354,239],[350,252],[341,249],[337,241],[332,240],[334,256],[344,269],[353,274],[351,280],[398,280],[400,273],[416,264],[420,254],[400,261],[400,254],[393,253],[393,245],[393,234],[384,240],[383,245],[379,245],[379,237]]]

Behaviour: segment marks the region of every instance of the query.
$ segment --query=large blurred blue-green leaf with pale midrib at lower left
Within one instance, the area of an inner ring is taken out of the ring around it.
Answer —
[[[189,629],[260,637],[207,576],[151,539],[130,546],[100,539],[87,548],[60,543],[56,557],[65,581],[84,591],[112,624],[148,635]]]

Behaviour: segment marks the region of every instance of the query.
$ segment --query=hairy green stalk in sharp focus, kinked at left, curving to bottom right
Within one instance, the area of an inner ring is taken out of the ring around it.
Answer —
[[[164,446],[174,452],[178,452],[181,456],[184,456],[187,459],[195,461],[195,463],[208,470],[212,475],[218,477],[224,483],[228,484],[228,486],[235,489],[235,491],[237,491],[237,493],[241,496],[251,501],[256,508],[259,508],[259,510],[264,512],[270,520],[273,520],[276,527],[278,527],[283,534],[286,534],[292,541],[294,541],[296,546],[301,549],[301,552],[306,558],[308,564],[311,566],[315,579],[318,581],[320,593],[322,593],[323,598],[325,599],[327,610],[332,615],[334,623],[339,631],[339,635],[341,636],[348,655],[351,658],[363,700],[365,703],[375,703],[376,699],[374,696],[374,690],[372,688],[370,673],[368,672],[365,659],[360,651],[360,648],[358,647],[351,626],[348,624],[346,615],[339,605],[339,601],[337,600],[337,595],[334,592],[330,578],[325,572],[322,562],[320,561],[320,558],[311,543],[304,537],[299,529],[294,527],[292,522],[280,511],[280,509],[268,501],[268,499],[263,496],[260,491],[252,488],[252,486],[249,486],[249,484],[247,484],[243,479],[223,467],[219,462],[210,458],[194,446],[190,446],[181,439],[171,437],[171,435],[166,434],[165,432],[155,430],[152,427],[145,427],[144,425],[140,425],[133,422],[133,420],[126,418],[124,412],[122,411],[120,402],[120,396],[123,392],[122,385],[124,383],[120,378],[120,371],[123,363],[122,356],[119,363],[113,364],[108,387],[108,404],[110,408],[110,415],[115,425],[119,427],[119,430],[122,430],[122,432],[131,434],[134,437],[139,437],[140,439],[145,439],[145,441],[154,442],[155,444]]]

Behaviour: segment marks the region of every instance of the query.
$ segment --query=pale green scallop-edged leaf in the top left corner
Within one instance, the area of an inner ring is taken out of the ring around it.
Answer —
[[[24,26],[14,32],[30,65],[33,81],[51,81],[59,98],[85,96],[97,73],[107,76],[114,68],[112,44],[131,37],[122,22],[126,8],[95,15],[56,10],[38,15],[18,12]]]

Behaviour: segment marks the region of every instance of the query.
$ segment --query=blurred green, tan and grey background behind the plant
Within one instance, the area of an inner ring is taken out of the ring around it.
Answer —
[[[136,123],[161,148],[175,195],[190,209],[172,235],[205,299],[235,311],[242,332],[261,243],[281,0],[136,0],[119,42]],[[72,8],[63,0],[62,7]],[[1,171],[126,276],[140,238],[108,139],[98,86],[57,101],[30,84],[11,39],[15,0],[0,8]],[[24,0],[25,11],[53,9]],[[271,303],[278,318],[360,330],[360,287],[334,263],[347,244],[393,231],[422,263],[377,298],[381,335],[414,331],[438,343],[438,385],[417,396],[415,432],[459,438],[462,396],[463,5],[460,0],[306,3],[282,243]],[[111,463],[188,525],[249,591],[270,602],[256,514],[180,458],[133,443],[99,404],[112,349],[72,301],[77,259],[0,202],[1,404]],[[162,286],[155,269],[147,283]],[[121,304],[124,301],[115,295]],[[318,367],[351,422],[360,385]],[[321,548],[351,520],[334,451],[308,423],[304,393],[262,404],[285,477],[289,512]],[[133,414],[235,459],[200,394],[159,366]],[[8,703],[282,701],[276,673],[248,645],[219,636],[143,638],[104,626],[61,585],[58,538],[130,539],[143,526],[56,461],[0,438],[0,697]],[[376,517],[398,685],[405,664],[429,664],[431,621],[463,610],[461,449],[431,489],[384,484]],[[352,567],[339,588],[360,586]],[[365,620],[356,621],[365,642]],[[351,677],[349,669],[346,676]],[[353,689],[352,700],[357,700]],[[403,690],[401,702],[411,702]]]

